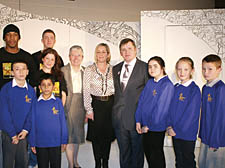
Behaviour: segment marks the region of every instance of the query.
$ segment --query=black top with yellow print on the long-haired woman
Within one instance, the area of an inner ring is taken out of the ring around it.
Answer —
[[[35,79],[36,79],[36,85],[35,86],[37,87],[37,89],[36,89],[37,97],[39,97],[40,94],[41,94],[41,91],[40,91],[38,85],[39,85],[40,77],[43,74],[45,74],[45,72],[43,70],[40,70],[35,75]],[[55,74],[53,74],[53,76],[55,78],[55,88],[53,90],[53,93],[54,93],[55,97],[62,98],[62,91],[64,91],[67,95],[67,87],[66,87],[65,78],[64,78],[64,76],[62,76],[62,79],[59,80],[58,77]]]

